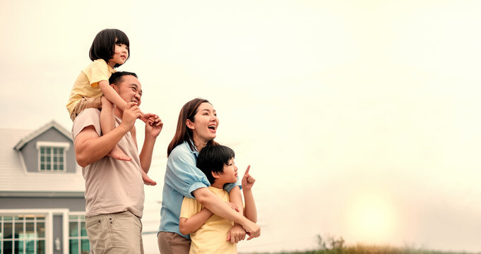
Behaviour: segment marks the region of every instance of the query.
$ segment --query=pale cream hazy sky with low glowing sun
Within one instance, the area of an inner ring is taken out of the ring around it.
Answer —
[[[0,128],[71,129],[65,104],[102,29],[128,35],[144,112],[165,123],[146,186],[195,97],[256,178],[261,237],[481,252],[479,1],[0,1]],[[136,124],[142,130],[141,123]],[[138,131],[138,140],[143,132]],[[140,142],[141,143],[141,142]],[[158,253],[155,234],[146,253]]]

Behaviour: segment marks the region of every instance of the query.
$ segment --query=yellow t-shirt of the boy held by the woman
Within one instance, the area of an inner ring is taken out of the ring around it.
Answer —
[[[209,186],[208,189],[215,195],[218,195],[224,201],[229,201],[229,193],[227,191]],[[180,217],[189,219],[197,212],[201,212],[202,205],[192,198],[184,198],[182,200],[182,209]],[[219,217],[216,214],[204,223],[201,228],[191,233],[191,250],[189,254],[194,253],[237,253],[237,244],[226,241],[227,233],[234,226],[234,222]]]

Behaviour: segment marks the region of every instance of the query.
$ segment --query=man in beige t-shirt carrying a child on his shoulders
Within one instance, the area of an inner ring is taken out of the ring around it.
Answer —
[[[117,127],[101,135],[98,109],[84,109],[73,121],[76,159],[85,179],[85,228],[94,253],[143,253],[142,171],[148,173],[163,123],[157,115],[147,114],[146,138],[139,155],[134,123],[142,116],[138,107],[141,83],[129,72],[113,73],[109,83],[127,102],[124,111],[115,109]],[[115,145],[131,160],[107,157]]]

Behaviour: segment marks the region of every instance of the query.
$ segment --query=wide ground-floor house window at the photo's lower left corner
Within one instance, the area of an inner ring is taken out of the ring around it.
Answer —
[[[45,253],[45,215],[0,215],[1,253]]]

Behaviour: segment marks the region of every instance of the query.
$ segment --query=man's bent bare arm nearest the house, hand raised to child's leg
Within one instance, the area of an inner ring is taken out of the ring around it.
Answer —
[[[109,133],[99,137],[93,126],[83,128],[73,141],[77,163],[85,167],[105,157],[131,130],[139,116],[141,116],[141,110],[135,102],[129,102],[124,110],[121,124]]]

